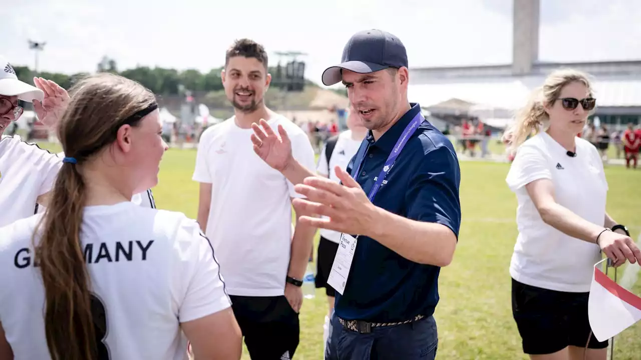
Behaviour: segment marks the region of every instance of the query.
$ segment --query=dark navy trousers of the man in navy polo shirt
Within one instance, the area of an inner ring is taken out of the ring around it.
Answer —
[[[369,334],[360,334],[346,329],[332,315],[325,360],[433,360],[437,345],[433,316],[402,325],[372,327]]]

